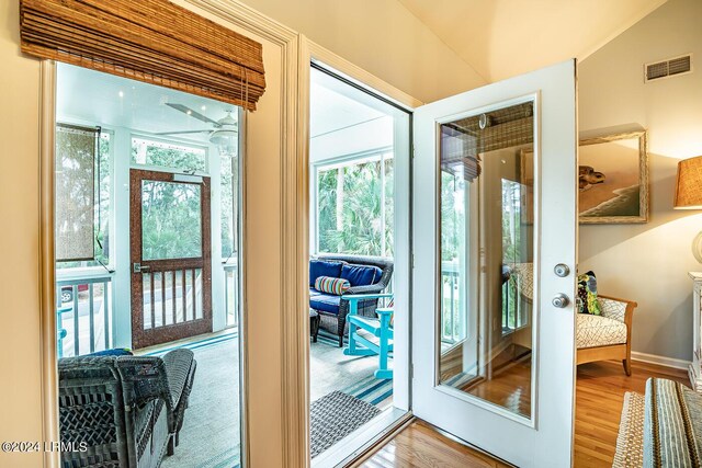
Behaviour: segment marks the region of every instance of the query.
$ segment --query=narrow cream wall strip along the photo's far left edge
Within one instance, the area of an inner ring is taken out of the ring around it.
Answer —
[[[20,54],[19,2],[0,2],[0,441],[41,441],[39,64]],[[12,72],[10,72],[12,70]],[[36,467],[41,454],[0,453]]]

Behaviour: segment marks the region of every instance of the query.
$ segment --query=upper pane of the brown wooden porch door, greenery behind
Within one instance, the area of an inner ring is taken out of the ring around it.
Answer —
[[[141,182],[141,259],[202,256],[202,201],[197,184]]]

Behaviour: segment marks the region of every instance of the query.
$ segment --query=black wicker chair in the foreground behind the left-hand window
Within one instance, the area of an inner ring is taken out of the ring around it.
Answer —
[[[158,467],[172,455],[196,363],[190,350],[161,357],[61,358],[59,424],[65,467]]]

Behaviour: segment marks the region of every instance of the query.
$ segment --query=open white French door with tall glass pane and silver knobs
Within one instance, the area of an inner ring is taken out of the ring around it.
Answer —
[[[415,112],[412,410],[520,467],[571,465],[576,62]]]

